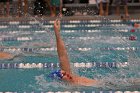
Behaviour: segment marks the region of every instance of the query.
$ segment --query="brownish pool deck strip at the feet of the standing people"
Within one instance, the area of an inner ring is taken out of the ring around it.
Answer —
[[[59,17],[49,17],[49,16],[31,16],[27,15],[25,17],[1,17],[0,21],[34,21],[34,20],[55,20]],[[61,20],[102,20],[102,19],[111,19],[111,20],[117,20],[121,19],[120,16],[116,15],[109,15],[109,16],[64,16],[61,18]],[[130,15],[129,19],[139,19],[140,20],[140,14],[134,14]]]

